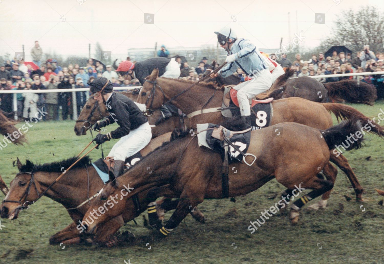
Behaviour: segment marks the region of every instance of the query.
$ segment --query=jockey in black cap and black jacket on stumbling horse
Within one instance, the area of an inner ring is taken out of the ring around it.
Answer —
[[[115,93],[112,83],[105,77],[98,77],[88,83],[91,95],[99,103],[104,103],[109,116],[104,121],[97,121],[94,130],[117,123],[119,127],[107,134],[98,134],[93,140],[103,144],[110,139],[120,139],[111,149],[108,156],[114,158],[114,176],[117,178],[124,171],[126,158],[143,149],[152,138],[151,126],[147,117],[128,97]]]

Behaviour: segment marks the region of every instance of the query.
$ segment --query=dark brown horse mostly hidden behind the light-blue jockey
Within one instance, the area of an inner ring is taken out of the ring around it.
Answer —
[[[204,76],[210,74],[212,70],[217,68],[218,64],[213,61],[212,65],[207,68]],[[271,88],[256,96],[258,100],[273,97],[275,99],[300,97],[310,101],[326,103],[329,100],[346,101],[348,103],[363,103],[366,105],[373,105],[377,98],[376,88],[374,85],[361,82],[357,83],[356,80],[341,80],[331,83],[320,83],[314,78],[308,76],[301,76],[298,78],[291,78],[295,70],[286,69],[285,74],[276,79]],[[230,75],[226,78],[218,76],[209,81],[216,81],[218,85],[237,85],[240,83],[240,78],[237,75]]]

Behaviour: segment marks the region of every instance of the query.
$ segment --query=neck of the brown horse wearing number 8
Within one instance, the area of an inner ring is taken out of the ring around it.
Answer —
[[[184,83],[178,80],[158,78],[157,83],[161,86],[167,100],[188,88],[191,83]],[[214,89],[204,85],[195,85],[182,95],[172,100],[172,104],[177,106],[183,113],[188,115],[196,110],[201,110],[209,98],[215,93],[214,98],[205,108],[221,107],[224,92],[221,89]]]

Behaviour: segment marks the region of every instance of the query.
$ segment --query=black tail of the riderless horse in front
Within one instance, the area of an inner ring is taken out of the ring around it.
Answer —
[[[364,133],[360,133],[360,138],[358,136],[356,136],[356,138],[353,137],[354,140],[352,142],[350,139],[348,140],[347,136],[355,134],[357,131],[361,131],[362,129],[363,126],[361,121],[357,118],[352,118],[348,121],[343,121],[340,124],[331,126],[326,130],[320,130],[320,132],[324,137],[329,150],[338,148],[339,146],[342,146],[345,150],[351,150],[362,147]]]

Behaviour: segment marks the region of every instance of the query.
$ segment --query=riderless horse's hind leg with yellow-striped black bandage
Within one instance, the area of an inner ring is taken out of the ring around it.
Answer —
[[[304,194],[291,205],[290,220],[292,224],[297,224],[300,215],[299,211],[306,203],[333,188],[333,181],[319,179],[317,176],[314,176],[311,181],[302,184],[302,186],[305,189],[313,189],[313,191]]]

